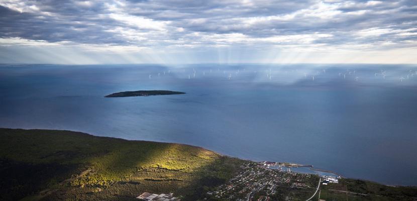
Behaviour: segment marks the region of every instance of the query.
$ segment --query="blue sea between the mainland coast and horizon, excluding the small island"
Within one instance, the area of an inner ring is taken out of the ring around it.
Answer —
[[[415,70],[363,64],[0,65],[0,127],[184,143],[417,185]],[[152,89],[186,94],[103,97]]]

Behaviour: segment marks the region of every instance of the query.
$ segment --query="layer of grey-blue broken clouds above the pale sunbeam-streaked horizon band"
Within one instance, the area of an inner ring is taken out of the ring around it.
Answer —
[[[42,0],[2,1],[0,5],[0,37],[47,42],[145,47],[386,43],[408,47],[416,45],[417,33],[417,2],[413,0]]]

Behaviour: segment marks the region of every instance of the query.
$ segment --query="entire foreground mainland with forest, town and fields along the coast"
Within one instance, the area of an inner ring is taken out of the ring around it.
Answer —
[[[200,147],[0,128],[0,200],[417,200],[417,188],[265,168]],[[320,196],[320,197],[319,197]]]

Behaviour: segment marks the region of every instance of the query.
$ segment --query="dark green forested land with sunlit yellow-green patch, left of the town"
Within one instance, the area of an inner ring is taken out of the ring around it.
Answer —
[[[195,200],[241,163],[189,145],[22,129],[0,129],[0,158],[2,200],[133,200],[143,191]]]

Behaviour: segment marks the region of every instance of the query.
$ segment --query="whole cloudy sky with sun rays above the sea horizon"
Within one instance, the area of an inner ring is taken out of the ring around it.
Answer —
[[[0,63],[417,63],[417,1],[0,0]]]

